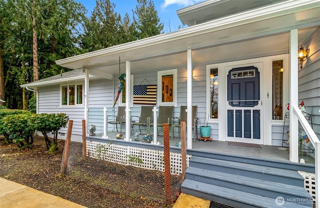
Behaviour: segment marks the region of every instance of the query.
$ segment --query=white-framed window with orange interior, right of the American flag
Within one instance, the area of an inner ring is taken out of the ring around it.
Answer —
[[[158,105],[174,105],[177,100],[177,69],[158,71]]]

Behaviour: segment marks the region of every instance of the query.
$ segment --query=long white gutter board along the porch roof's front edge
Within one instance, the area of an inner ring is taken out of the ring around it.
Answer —
[[[245,11],[242,13],[234,14],[231,16],[222,17],[220,19],[215,19],[202,24],[197,24],[187,28],[183,28],[174,32],[159,34],[152,37],[147,37],[144,39],[136,40],[133,42],[127,42],[120,45],[111,46],[108,48],[103,48],[100,50],[83,53],[80,55],[56,60],[56,64],[65,66],[71,62],[78,60],[90,59],[94,57],[100,57],[105,55],[117,54],[120,52],[138,49],[146,46],[153,46],[155,44],[161,44],[169,41],[174,41],[177,39],[182,39],[186,37],[196,36],[203,33],[218,31],[221,29],[231,28],[243,24],[248,24],[268,18],[283,16],[289,13],[294,13],[297,11],[312,9],[319,7],[320,0],[288,0],[284,2],[279,2],[276,4],[268,5],[261,8],[256,8],[253,10]],[[190,48],[192,49],[192,48]],[[130,59],[129,61],[134,60]],[[74,69],[74,68],[73,68]]]

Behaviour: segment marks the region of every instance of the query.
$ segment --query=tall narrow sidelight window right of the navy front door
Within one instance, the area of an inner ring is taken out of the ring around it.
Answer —
[[[283,59],[272,61],[272,119],[283,119]]]

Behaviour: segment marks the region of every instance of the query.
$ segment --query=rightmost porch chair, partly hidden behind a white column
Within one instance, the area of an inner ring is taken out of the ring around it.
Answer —
[[[197,105],[192,105],[193,139],[198,138],[197,120],[199,118],[196,117],[196,109],[197,109]],[[186,110],[186,106],[185,105],[181,105],[180,106],[180,117],[173,117],[173,121],[174,121],[174,119],[178,119],[178,123],[177,124],[173,124],[173,127],[178,127],[179,135],[180,135],[180,130],[181,130],[181,121],[185,122],[185,127],[187,126],[187,115],[186,115],[187,112],[185,110]]]

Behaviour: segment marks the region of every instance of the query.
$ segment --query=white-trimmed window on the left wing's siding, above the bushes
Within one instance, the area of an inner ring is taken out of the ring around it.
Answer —
[[[62,106],[82,105],[83,83],[62,84],[60,86],[60,104]]]

